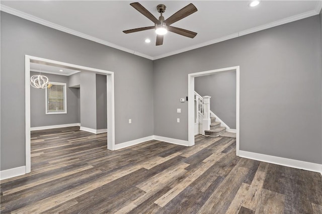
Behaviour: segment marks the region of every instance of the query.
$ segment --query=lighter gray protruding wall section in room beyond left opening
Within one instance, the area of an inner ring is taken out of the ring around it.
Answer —
[[[81,126],[96,129],[96,74],[81,72]]]

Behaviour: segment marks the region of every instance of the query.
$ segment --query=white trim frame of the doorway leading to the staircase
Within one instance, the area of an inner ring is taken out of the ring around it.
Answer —
[[[239,66],[188,74],[188,146],[195,145],[195,77],[211,75],[221,71],[236,72],[236,156],[239,156]]]

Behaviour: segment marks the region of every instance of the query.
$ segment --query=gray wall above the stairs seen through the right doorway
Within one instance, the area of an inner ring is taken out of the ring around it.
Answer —
[[[236,71],[196,77],[195,91],[211,96],[210,110],[230,129],[236,129]]]

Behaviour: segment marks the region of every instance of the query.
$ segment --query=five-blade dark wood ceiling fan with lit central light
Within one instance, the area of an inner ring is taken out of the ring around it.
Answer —
[[[143,14],[143,16],[145,16],[146,18],[151,20],[154,23],[154,26],[143,27],[143,28],[135,28],[135,29],[123,31],[126,34],[138,32],[138,31],[145,31],[145,30],[155,29],[155,33],[157,34],[156,35],[156,43],[155,43],[155,45],[162,45],[163,44],[163,37],[168,31],[176,33],[176,34],[179,34],[179,35],[182,35],[182,36],[186,36],[186,37],[189,37],[189,38],[194,38],[197,35],[197,33],[195,33],[195,32],[188,31],[188,30],[185,30],[185,29],[182,29],[182,28],[176,28],[176,27],[170,26],[171,24],[173,24],[175,22],[178,22],[179,20],[182,20],[183,18],[185,18],[185,17],[195,13],[196,11],[198,11],[197,8],[193,4],[187,5],[186,7],[184,7],[180,11],[177,11],[174,15],[172,15],[171,17],[169,17],[166,20],[162,16],[162,14],[165,13],[165,11],[166,11],[166,6],[165,5],[158,5],[156,7],[157,12],[161,14],[161,16],[159,17],[158,20],[150,12],[148,12],[148,10],[146,10],[142,5],[140,5],[139,3],[137,3],[137,2],[131,3],[130,6],[132,6],[138,12]]]

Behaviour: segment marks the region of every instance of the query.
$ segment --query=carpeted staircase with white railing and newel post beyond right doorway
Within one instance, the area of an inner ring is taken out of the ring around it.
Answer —
[[[210,111],[210,98],[202,97],[195,91],[195,125],[198,126],[198,133],[195,129],[195,134],[219,136],[229,127]]]

